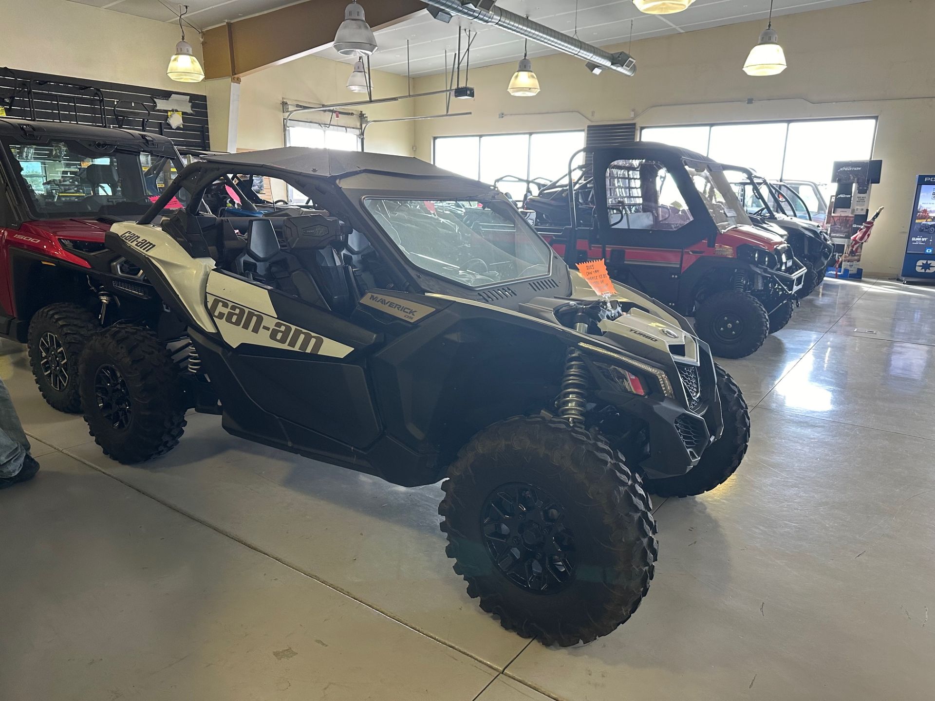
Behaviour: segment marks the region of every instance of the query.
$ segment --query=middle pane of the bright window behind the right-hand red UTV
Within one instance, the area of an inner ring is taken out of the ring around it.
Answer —
[[[718,163],[751,168],[765,178],[781,178],[785,130],[785,122],[714,126],[708,156]]]

